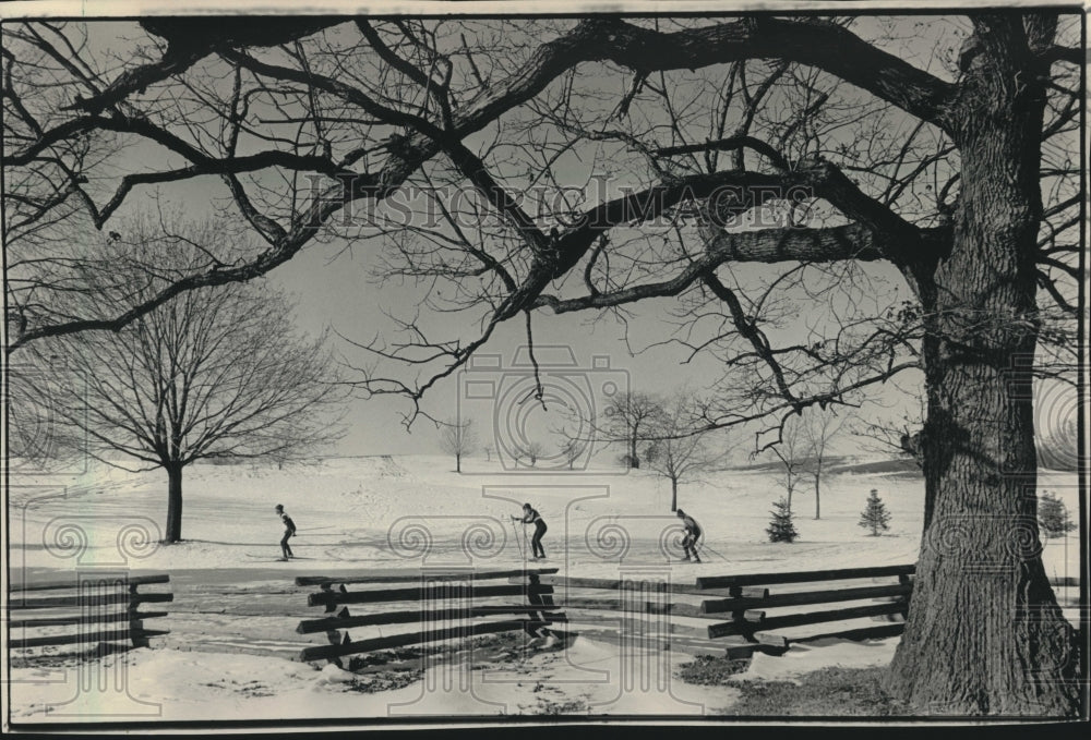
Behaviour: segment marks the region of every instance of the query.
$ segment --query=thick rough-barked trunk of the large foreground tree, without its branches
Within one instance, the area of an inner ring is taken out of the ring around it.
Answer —
[[[1042,90],[990,44],[957,111],[952,250],[922,290],[927,526],[889,687],[922,713],[1071,715],[1074,631],[1042,566],[1031,408]]]

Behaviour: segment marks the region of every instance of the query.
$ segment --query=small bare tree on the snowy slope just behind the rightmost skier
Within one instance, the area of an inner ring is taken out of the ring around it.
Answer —
[[[697,481],[703,471],[722,460],[730,447],[726,433],[716,435],[712,446],[708,429],[702,428],[698,405],[692,393],[679,391],[659,407],[655,422],[645,434],[654,438],[655,453],[648,456],[648,466],[671,482],[671,511],[679,508],[679,484]]]

